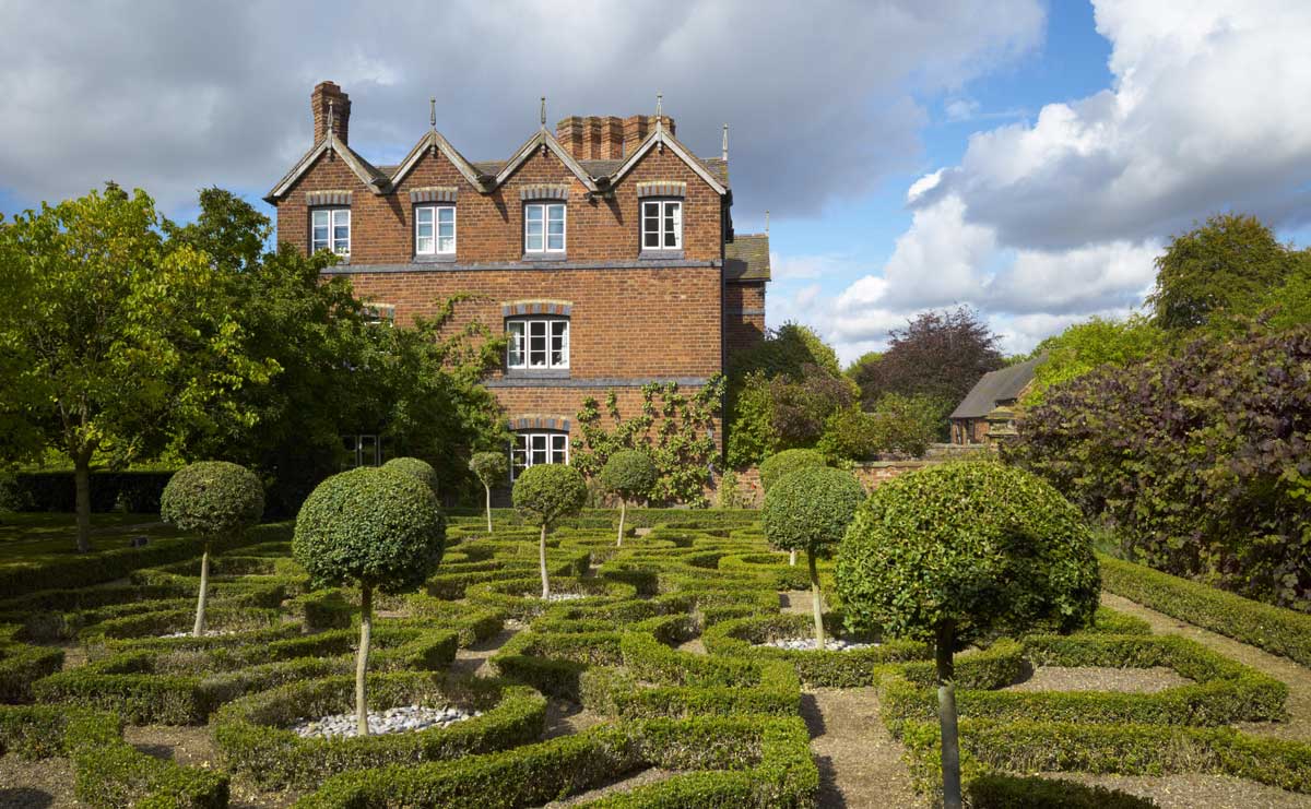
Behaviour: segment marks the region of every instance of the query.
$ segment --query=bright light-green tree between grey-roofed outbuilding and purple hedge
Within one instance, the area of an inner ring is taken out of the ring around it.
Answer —
[[[1091,318],[1038,343],[1033,356],[1046,355],[1034,368],[1024,406],[1042,402],[1047,389],[1084,376],[1101,365],[1124,368],[1162,350],[1165,334],[1142,315],[1124,321]]]

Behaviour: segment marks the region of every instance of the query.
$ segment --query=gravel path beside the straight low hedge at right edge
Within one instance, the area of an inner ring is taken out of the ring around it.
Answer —
[[[1101,603],[1127,613],[1146,620],[1154,632],[1162,635],[1183,635],[1202,645],[1215,649],[1221,655],[1249,665],[1259,672],[1283,681],[1289,686],[1289,721],[1286,723],[1239,723],[1235,727],[1247,733],[1269,736],[1276,738],[1289,738],[1294,741],[1311,741],[1311,669],[1298,665],[1287,657],[1270,655],[1253,645],[1240,643],[1232,638],[1218,635],[1201,627],[1194,627],[1179,618],[1171,618],[1164,613],[1148,609],[1129,601],[1114,593],[1103,593]]]

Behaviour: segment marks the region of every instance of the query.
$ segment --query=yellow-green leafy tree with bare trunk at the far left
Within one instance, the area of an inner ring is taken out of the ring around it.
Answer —
[[[146,192],[113,185],[0,226],[5,450],[49,446],[72,461],[80,551],[90,548],[94,457],[126,465],[184,427],[249,425],[257,416],[236,393],[278,372],[241,350],[212,258],[161,226]]]

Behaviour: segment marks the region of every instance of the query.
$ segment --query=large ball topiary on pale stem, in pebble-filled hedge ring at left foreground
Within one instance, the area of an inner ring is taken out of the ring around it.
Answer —
[[[291,551],[316,585],[359,585],[355,719],[368,734],[364,674],[374,623],[374,589],[412,590],[442,560],[446,518],[437,495],[393,469],[353,469],[320,483],[296,514]]]

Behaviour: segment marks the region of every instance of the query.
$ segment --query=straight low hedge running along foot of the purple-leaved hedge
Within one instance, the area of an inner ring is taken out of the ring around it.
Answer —
[[[1311,666],[1311,614],[1251,601],[1141,564],[1099,555],[1101,586],[1180,620]]]

